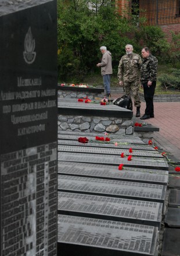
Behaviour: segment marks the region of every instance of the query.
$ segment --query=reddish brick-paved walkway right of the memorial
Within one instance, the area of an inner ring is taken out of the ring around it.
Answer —
[[[121,97],[121,93],[112,93],[111,98]],[[141,116],[145,113],[146,103],[141,104]],[[160,128],[154,132],[153,142],[157,147],[167,152],[169,158],[180,162],[180,102],[154,102],[154,118],[141,120],[135,117],[134,121],[146,122]]]

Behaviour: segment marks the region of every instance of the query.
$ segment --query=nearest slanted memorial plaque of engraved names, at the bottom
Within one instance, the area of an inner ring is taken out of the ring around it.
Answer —
[[[157,255],[157,227],[58,215],[60,255]]]

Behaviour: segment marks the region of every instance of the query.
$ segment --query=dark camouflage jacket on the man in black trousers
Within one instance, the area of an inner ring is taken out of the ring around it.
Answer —
[[[153,55],[149,55],[148,58],[143,59],[141,65],[141,83],[147,81],[156,81],[157,77],[157,59]]]

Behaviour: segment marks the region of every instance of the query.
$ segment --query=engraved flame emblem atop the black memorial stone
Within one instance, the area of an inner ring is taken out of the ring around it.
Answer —
[[[31,32],[31,27],[29,27],[26,37],[24,39],[24,61],[31,64],[35,61],[36,52],[35,49],[35,40],[33,39],[33,34]]]

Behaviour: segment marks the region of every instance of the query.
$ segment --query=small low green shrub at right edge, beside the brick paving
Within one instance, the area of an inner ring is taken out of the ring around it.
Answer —
[[[160,85],[165,91],[168,88],[173,88],[176,90],[180,90],[180,70],[179,69],[171,69],[171,73],[163,73],[159,76]]]

